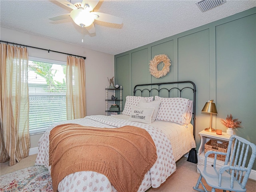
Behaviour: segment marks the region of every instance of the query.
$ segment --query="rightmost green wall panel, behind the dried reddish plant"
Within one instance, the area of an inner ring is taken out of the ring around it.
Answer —
[[[241,120],[235,134],[256,143],[256,14],[216,26],[216,74],[218,117]]]

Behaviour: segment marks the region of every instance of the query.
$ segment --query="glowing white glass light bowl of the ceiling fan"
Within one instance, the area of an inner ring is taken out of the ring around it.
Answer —
[[[70,16],[73,21],[81,27],[88,27],[94,22],[94,16],[87,10],[72,10]]]

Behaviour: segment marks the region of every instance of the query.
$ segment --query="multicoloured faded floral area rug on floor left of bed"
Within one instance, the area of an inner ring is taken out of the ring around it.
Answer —
[[[0,191],[52,192],[52,178],[45,166],[34,165],[1,175]]]

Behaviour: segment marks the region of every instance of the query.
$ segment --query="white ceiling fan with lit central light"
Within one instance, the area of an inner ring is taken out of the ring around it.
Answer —
[[[122,24],[123,19],[112,16],[106,13],[92,12],[95,6],[100,0],[56,0],[61,4],[73,9],[68,14],[59,15],[56,17],[49,18],[52,21],[62,20],[72,18],[73,21],[86,28],[89,33],[95,33],[94,20],[99,20],[103,22],[109,22],[114,24]]]

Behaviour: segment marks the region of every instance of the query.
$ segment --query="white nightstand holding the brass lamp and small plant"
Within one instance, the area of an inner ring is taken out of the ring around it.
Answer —
[[[222,135],[217,135],[216,132],[207,132],[202,130],[199,132],[201,137],[200,147],[198,149],[198,165],[204,165],[204,144],[208,142],[210,139],[217,140],[217,141],[229,141],[231,135],[228,135],[226,132],[222,132]],[[214,159],[207,158],[207,165],[213,165]],[[224,161],[216,160],[216,167],[223,166]]]

